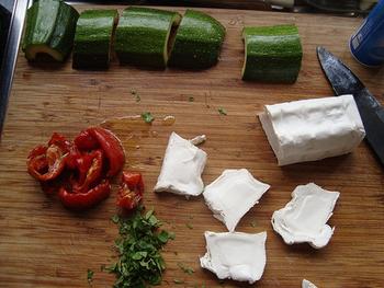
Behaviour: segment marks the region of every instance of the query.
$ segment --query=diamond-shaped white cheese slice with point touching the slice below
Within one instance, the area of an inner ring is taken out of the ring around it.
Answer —
[[[225,170],[205,187],[203,196],[213,216],[233,232],[241,217],[269,188],[270,185],[257,181],[246,169]]]

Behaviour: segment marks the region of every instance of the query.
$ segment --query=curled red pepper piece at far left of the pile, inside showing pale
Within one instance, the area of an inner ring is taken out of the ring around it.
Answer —
[[[52,181],[61,174],[66,166],[66,157],[70,142],[64,136],[54,134],[48,147],[37,146],[29,154],[29,173],[41,182]]]

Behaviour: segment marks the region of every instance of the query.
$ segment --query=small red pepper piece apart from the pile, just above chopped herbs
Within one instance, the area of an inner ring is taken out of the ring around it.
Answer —
[[[143,193],[144,182],[142,174],[124,171],[117,194],[117,206],[126,210],[136,208],[143,198]]]

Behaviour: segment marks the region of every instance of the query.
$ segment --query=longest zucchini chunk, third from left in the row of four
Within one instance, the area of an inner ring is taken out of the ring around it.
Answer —
[[[165,10],[129,7],[123,11],[115,36],[115,50],[121,64],[165,69],[168,41],[180,14]]]

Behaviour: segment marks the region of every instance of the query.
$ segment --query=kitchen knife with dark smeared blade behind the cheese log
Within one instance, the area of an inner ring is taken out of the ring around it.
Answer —
[[[359,78],[324,47],[317,57],[337,96],[352,94],[364,124],[366,140],[384,166],[384,108]]]

